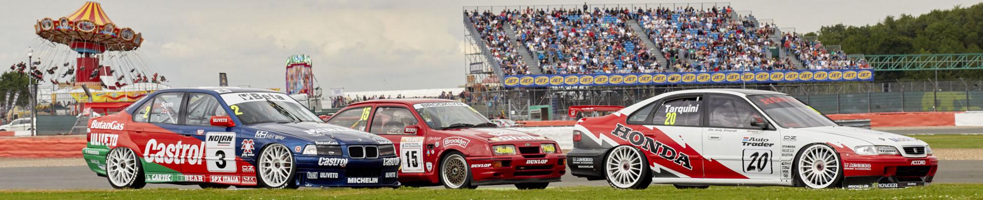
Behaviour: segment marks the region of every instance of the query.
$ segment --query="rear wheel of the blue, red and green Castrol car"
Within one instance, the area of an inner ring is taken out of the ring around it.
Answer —
[[[117,189],[140,189],[146,185],[144,166],[137,154],[126,147],[115,148],[106,155],[106,178]]]

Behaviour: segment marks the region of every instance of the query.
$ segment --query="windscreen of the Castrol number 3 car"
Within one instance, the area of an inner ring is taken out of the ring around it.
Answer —
[[[293,98],[275,92],[239,92],[222,94],[239,121],[245,125],[260,123],[321,122]]]

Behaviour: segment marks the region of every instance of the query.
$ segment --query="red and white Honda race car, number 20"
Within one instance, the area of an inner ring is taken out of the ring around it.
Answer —
[[[573,141],[570,173],[615,188],[905,187],[932,182],[939,164],[921,140],[837,125],[765,90],[667,92],[578,121]]]

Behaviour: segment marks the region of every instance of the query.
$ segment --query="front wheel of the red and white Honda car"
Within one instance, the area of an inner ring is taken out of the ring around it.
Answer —
[[[842,179],[839,154],[826,144],[813,144],[799,151],[793,163],[795,179],[808,188],[831,188]]]

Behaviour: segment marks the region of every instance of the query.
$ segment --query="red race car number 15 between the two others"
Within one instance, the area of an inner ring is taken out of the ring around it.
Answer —
[[[396,144],[404,185],[546,188],[566,173],[556,142],[498,128],[467,104],[446,99],[385,99],[349,105],[328,124],[376,133]]]

